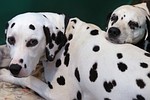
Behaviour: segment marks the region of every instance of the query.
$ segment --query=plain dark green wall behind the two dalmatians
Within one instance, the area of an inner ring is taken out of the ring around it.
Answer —
[[[131,0],[1,0],[0,44],[4,44],[4,29],[8,20],[24,12],[56,12],[105,27],[106,16],[116,7],[131,4]]]

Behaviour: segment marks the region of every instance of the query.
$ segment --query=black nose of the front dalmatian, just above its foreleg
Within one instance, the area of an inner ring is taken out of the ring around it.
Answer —
[[[10,72],[14,75],[14,76],[18,76],[20,70],[21,70],[21,66],[18,65],[18,64],[11,64],[9,69],[10,69]]]

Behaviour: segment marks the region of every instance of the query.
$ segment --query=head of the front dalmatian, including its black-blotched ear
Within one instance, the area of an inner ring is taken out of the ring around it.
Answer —
[[[41,13],[25,13],[8,22],[5,30],[6,43],[12,59],[9,69],[14,76],[29,76],[41,57],[46,55],[48,60],[52,60],[58,48],[60,49],[62,41],[59,39],[61,40],[63,33],[60,32],[60,27],[56,28],[56,22],[52,19],[56,15],[49,15],[51,20]]]

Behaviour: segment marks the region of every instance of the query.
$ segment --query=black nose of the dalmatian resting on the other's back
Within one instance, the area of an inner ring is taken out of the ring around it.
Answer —
[[[110,38],[116,38],[116,37],[118,37],[120,34],[121,34],[121,31],[119,30],[119,28],[111,27],[111,28],[108,30],[108,36],[109,36]]]

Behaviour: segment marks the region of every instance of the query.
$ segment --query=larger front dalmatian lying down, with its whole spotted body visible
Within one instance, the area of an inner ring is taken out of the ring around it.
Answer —
[[[12,18],[6,29],[10,71],[1,70],[0,81],[46,100],[150,100],[150,53],[109,42],[96,25],[65,19],[55,13]],[[45,82],[31,76],[39,60]]]

